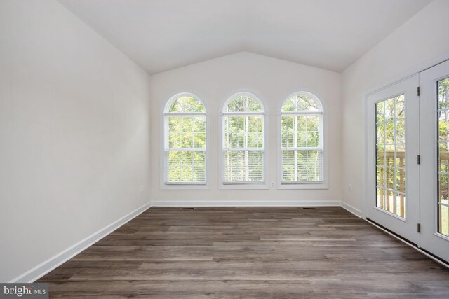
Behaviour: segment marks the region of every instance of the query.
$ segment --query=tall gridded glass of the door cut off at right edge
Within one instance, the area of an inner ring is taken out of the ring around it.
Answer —
[[[438,232],[449,236],[448,143],[449,78],[438,81]]]

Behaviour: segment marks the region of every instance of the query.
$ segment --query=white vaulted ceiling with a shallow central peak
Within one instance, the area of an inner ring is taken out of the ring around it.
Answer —
[[[342,71],[431,0],[59,0],[149,74],[248,51]]]

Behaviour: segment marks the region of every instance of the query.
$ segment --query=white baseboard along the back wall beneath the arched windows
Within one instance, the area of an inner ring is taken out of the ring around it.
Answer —
[[[339,200],[293,201],[154,201],[152,207],[340,207]]]

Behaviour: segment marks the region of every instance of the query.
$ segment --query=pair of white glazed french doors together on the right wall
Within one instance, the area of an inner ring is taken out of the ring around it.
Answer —
[[[367,96],[370,221],[449,262],[449,60]]]

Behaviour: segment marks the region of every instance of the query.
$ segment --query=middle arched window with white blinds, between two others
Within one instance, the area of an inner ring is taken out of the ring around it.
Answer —
[[[264,183],[264,109],[255,95],[230,97],[222,113],[224,184]]]

